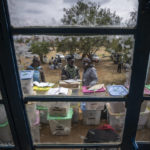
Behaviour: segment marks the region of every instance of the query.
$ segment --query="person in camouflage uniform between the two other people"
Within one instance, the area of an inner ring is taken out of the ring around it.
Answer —
[[[74,65],[75,59],[73,55],[67,55],[67,65],[64,66],[61,73],[61,79],[80,79],[79,69]]]

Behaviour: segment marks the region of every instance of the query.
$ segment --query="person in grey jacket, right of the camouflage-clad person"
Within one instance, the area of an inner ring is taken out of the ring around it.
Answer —
[[[89,58],[83,59],[84,72],[82,75],[82,85],[91,87],[98,82],[96,69],[92,65],[92,61]]]

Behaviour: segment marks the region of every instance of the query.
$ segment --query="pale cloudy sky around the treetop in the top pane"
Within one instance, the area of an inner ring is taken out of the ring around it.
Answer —
[[[78,0],[7,0],[11,24],[21,26],[59,26],[63,8],[71,8]],[[90,1],[90,0],[88,0]],[[138,0],[91,0],[102,8],[110,8],[122,17],[130,18],[130,12],[137,10]]]

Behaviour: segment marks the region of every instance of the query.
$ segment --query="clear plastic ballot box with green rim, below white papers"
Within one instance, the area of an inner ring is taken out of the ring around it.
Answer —
[[[52,102],[48,108],[47,120],[53,135],[69,135],[73,110],[70,103]]]

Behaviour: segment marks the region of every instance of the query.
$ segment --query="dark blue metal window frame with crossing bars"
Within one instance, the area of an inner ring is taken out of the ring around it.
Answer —
[[[140,0],[138,8],[138,21],[135,28],[76,28],[76,27],[32,27],[32,28],[13,28],[10,24],[8,6],[6,0],[0,1],[0,72],[3,79],[4,94],[3,100],[16,149],[34,150],[38,148],[91,148],[91,147],[121,147],[121,150],[138,149],[150,146],[150,143],[136,142],[135,136],[140,114],[140,107],[143,100],[150,100],[144,97],[144,85],[149,59],[149,35],[150,35],[150,4],[149,0]],[[17,68],[14,43],[12,35],[134,35],[134,54],[132,64],[132,76],[129,94],[126,98],[107,98],[107,97],[41,97],[30,96],[23,98],[19,73]],[[143,48],[144,47],[144,48]],[[15,88],[14,88],[15,87]],[[139,87],[136,89],[136,87]],[[28,101],[101,101],[101,102],[121,102],[127,103],[127,112],[123,139],[121,144],[33,144],[29,124],[25,111],[25,103]],[[134,110],[134,111],[133,111]],[[19,112],[19,113],[18,113]],[[16,119],[17,118],[17,119]],[[22,138],[24,137],[24,138]],[[7,149],[8,147],[6,147]]]

